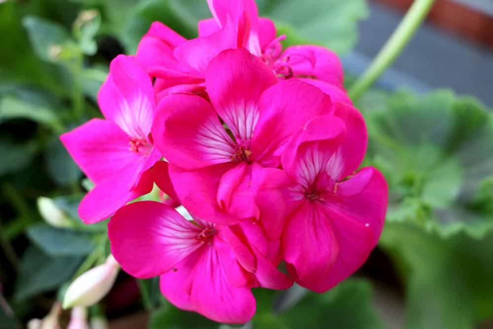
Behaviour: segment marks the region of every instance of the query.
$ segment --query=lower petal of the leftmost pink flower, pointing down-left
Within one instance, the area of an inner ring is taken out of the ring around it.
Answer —
[[[90,190],[79,204],[79,216],[86,224],[111,217],[128,202],[152,190],[151,171],[145,171],[135,185],[135,166],[111,176]],[[130,178],[130,179],[129,179]]]

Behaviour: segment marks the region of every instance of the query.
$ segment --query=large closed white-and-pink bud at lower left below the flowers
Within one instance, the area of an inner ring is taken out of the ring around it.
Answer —
[[[99,302],[113,286],[119,268],[113,255],[109,255],[104,264],[80,275],[67,289],[63,307],[91,306]]]

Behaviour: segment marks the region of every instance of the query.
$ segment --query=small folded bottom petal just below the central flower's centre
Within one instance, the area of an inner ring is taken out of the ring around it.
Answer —
[[[217,188],[217,204],[224,212],[238,218],[258,218],[255,205],[257,177],[261,170],[257,163],[238,163],[221,176]]]

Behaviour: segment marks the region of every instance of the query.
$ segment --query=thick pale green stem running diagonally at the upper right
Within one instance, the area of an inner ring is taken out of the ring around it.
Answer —
[[[392,36],[370,64],[370,67],[350,88],[349,96],[353,101],[361,97],[385,72],[387,67],[395,61],[420,27],[433,2],[434,0],[415,0],[413,2],[397,29],[395,29]]]

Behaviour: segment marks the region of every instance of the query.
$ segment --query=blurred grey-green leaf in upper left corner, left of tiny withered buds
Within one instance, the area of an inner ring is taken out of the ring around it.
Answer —
[[[28,31],[36,54],[45,61],[54,60],[53,47],[62,46],[70,40],[63,26],[45,19],[27,16],[22,20],[22,24]]]

